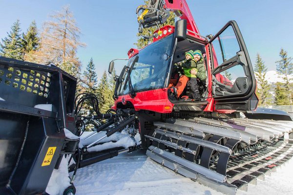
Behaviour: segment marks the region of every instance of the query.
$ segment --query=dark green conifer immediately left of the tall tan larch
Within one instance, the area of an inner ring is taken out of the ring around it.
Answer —
[[[22,45],[24,60],[37,62],[35,52],[40,47],[40,38],[38,37],[38,29],[35,20],[32,21],[32,23],[28,27],[26,34],[22,34]]]

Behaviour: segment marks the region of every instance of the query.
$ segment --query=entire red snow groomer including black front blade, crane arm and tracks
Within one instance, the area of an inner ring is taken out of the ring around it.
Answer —
[[[170,11],[179,18],[175,26],[159,27]],[[74,98],[76,78],[59,68],[0,58],[0,194],[45,194],[54,167],[72,153],[71,180],[80,167],[139,148],[174,172],[230,195],[292,158],[292,118],[256,109],[253,68],[235,21],[204,37],[185,0],[149,0],[136,13],[140,33],[158,29],[142,35],[152,43],[128,51],[127,65],[115,76],[115,104],[106,113],[93,94]],[[188,55],[195,67],[179,63]],[[110,74],[113,68],[111,61]],[[80,112],[86,101],[94,115]],[[67,130],[80,136],[86,123],[95,131],[80,144],[68,138]],[[111,139],[125,128],[136,140],[131,147]],[[105,149],[110,142],[115,146]]]

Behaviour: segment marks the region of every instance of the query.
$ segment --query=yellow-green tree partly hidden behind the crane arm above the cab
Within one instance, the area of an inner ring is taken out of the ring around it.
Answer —
[[[148,0],[145,0],[145,4],[148,4]],[[166,25],[173,25],[175,26],[175,14],[173,12],[170,12],[170,16],[167,18],[166,22],[164,24],[160,24],[159,27],[163,27]],[[144,28],[142,34],[145,36],[152,36],[154,32],[158,30],[157,26],[153,26],[150,28]],[[137,33],[136,35],[138,37],[137,42],[134,43],[138,49],[142,49],[146,45],[152,42],[152,39],[144,39],[140,33]]]

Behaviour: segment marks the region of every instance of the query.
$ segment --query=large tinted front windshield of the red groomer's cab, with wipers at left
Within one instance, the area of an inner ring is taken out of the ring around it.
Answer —
[[[167,57],[171,55],[172,44],[173,35],[170,35],[146,46],[137,56],[129,59],[128,65],[132,64],[130,79],[135,92],[164,88],[170,60]],[[119,95],[128,94],[127,79],[121,84]]]

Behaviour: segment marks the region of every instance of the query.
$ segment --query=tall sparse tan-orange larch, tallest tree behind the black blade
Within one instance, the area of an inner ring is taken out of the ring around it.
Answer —
[[[52,21],[44,23],[41,34],[40,63],[54,63],[69,74],[78,76],[81,62],[76,56],[77,48],[85,44],[79,41],[81,32],[74,16],[67,6],[51,18]]]

